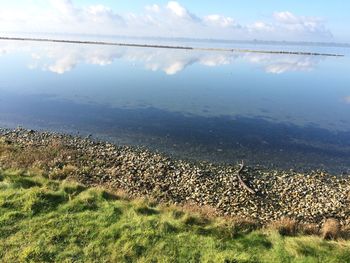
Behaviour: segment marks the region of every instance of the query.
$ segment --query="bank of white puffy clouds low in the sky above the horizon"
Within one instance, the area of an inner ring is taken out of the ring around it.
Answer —
[[[0,31],[302,41],[332,38],[325,21],[318,17],[282,11],[266,21],[242,24],[221,14],[199,16],[176,1],[164,6],[150,4],[140,13],[120,14],[104,5],[77,6],[72,0],[51,0],[46,8],[1,9]]]

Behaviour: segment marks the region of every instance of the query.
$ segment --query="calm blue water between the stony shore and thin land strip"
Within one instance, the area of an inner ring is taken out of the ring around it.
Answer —
[[[349,50],[283,49],[346,56],[0,41],[0,126],[92,134],[181,158],[348,172]]]

